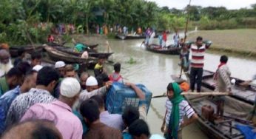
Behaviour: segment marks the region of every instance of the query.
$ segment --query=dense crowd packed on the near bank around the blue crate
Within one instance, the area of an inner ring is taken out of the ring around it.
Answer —
[[[78,75],[64,61],[43,67],[37,52],[30,61],[22,57],[14,59],[14,66],[8,50],[0,50],[2,138],[150,138],[144,92],[124,83],[120,63],[107,75],[100,58],[93,76]],[[105,97],[113,82],[134,89],[139,106],[127,106],[122,115],[110,114]]]

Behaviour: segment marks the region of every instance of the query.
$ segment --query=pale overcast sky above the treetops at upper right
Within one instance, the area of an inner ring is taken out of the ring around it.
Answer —
[[[183,9],[189,4],[189,0],[147,0],[155,1],[158,6],[169,8],[175,7],[177,9]],[[250,7],[251,4],[255,4],[256,0],[192,0],[192,5],[200,5],[201,7],[226,7],[227,9],[240,9],[241,7]]]

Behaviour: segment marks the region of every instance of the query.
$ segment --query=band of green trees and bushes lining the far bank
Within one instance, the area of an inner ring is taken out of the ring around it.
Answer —
[[[26,44],[44,41],[55,24],[75,24],[80,33],[89,33],[95,24],[115,24],[135,30],[153,27],[158,30],[183,30],[189,20],[201,29],[255,27],[256,4],[251,8],[227,10],[226,7],[184,6],[178,10],[158,7],[146,0],[1,0],[0,42]],[[97,15],[101,11],[102,15]],[[47,23],[40,27],[39,23]],[[30,38],[30,39],[29,39]]]

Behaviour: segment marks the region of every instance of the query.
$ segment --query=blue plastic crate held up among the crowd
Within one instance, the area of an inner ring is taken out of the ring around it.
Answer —
[[[136,84],[136,86],[145,93],[146,96],[146,108],[147,112],[149,111],[149,106],[151,103],[152,92],[149,92],[148,89],[143,84]],[[106,106],[107,110],[112,114],[122,114],[126,106],[135,106],[138,107],[139,98],[136,95],[136,92],[125,86],[124,84],[115,82],[112,84],[109,92],[107,92]]]

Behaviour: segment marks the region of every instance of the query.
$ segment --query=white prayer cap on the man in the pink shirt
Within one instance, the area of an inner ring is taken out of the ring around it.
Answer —
[[[76,78],[64,78],[61,81],[60,93],[64,97],[73,98],[81,91],[81,86]]]

